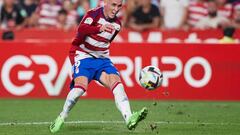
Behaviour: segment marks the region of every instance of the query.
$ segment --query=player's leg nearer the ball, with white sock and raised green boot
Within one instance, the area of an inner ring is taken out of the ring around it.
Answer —
[[[124,91],[124,87],[118,75],[107,74],[103,72],[100,77],[100,81],[105,85],[105,87],[112,90],[116,106],[122,113],[122,116],[129,130],[134,129],[137,126],[138,122],[145,119],[145,117],[147,116],[146,107],[132,114],[128,97]]]

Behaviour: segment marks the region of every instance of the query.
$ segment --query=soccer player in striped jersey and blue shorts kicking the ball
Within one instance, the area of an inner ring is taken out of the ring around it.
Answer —
[[[119,72],[109,59],[109,46],[121,28],[116,14],[122,7],[122,0],[106,0],[103,7],[90,10],[79,24],[70,49],[73,65],[73,80],[70,92],[57,119],[50,125],[50,131],[60,130],[78,98],[84,94],[91,80],[97,80],[112,91],[115,103],[121,112],[127,128],[134,129],[147,116],[147,108],[132,113],[124,91]]]

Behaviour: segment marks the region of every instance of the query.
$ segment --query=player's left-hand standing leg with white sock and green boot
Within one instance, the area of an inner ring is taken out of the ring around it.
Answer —
[[[87,89],[88,79],[86,77],[77,77],[74,79],[74,88],[68,93],[63,110],[57,119],[50,125],[50,131],[56,133],[63,126],[65,119],[68,117],[70,110],[77,103],[80,96],[82,96]]]

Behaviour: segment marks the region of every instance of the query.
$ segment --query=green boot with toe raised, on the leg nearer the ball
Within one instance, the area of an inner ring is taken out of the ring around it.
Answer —
[[[148,109],[143,107],[140,111],[134,112],[127,122],[127,128],[129,130],[135,129],[138,122],[144,120],[147,117]]]

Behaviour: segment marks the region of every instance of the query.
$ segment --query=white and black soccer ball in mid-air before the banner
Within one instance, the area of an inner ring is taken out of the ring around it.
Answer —
[[[139,82],[147,90],[154,90],[161,86],[163,74],[154,66],[146,66],[140,71]]]

